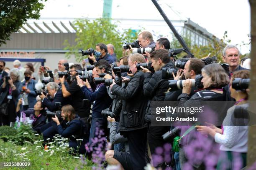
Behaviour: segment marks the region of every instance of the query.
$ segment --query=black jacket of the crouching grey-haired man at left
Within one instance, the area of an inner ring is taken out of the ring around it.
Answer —
[[[56,92],[53,100],[50,100],[47,97],[45,97],[43,100],[44,106],[46,106],[51,112],[58,110],[58,107],[55,106],[55,102],[61,102],[62,106],[70,103],[69,97],[66,97],[66,98],[63,97],[61,87]]]

